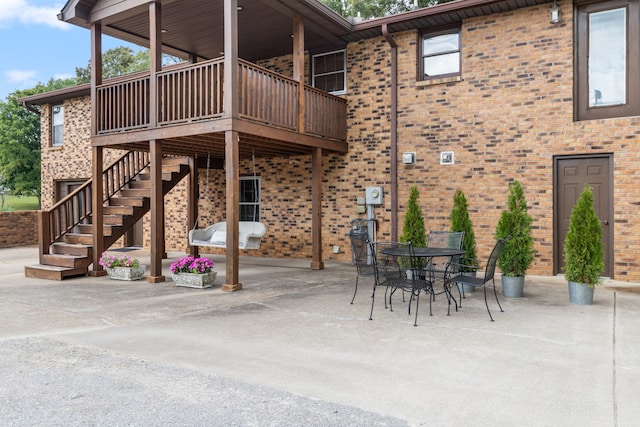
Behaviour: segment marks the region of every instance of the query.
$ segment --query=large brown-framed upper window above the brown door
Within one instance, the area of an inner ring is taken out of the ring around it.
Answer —
[[[578,6],[578,120],[640,115],[638,0]]]

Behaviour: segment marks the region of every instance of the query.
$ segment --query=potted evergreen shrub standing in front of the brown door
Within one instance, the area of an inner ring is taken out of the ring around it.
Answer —
[[[593,207],[593,192],[585,185],[569,217],[564,241],[564,277],[571,304],[593,304],[593,291],[604,271],[602,225]]]

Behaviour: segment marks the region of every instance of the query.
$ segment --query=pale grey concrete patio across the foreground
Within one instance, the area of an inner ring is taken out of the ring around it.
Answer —
[[[130,255],[145,262],[145,251]],[[243,291],[169,280],[25,278],[37,248],[0,249],[0,424],[634,426],[640,285],[607,280],[572,306],[562,277],[525,297],[481,292],[418,327],[355,268],[243,257]],[[498,282],[499,286],[499,282]]]

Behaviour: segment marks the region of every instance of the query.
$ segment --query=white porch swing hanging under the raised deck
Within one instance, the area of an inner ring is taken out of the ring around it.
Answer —
[[[253,177],[256,177],[256,161],[255,153],[252,153],[251,159],[253,162]],[[207,155],[207,183],[206,188],[209,188],[209,166],[211,161],[211,155]],[[253,182],[254,193],[257,193],[255,187],[255,180]],[[238,230],[238,248],[239,249],[260,249],[260,243],[262,236],[267,232],[267,227],[256,221],[257,209],[253,210],[253,221],[239,221]],[[189,245],[190,246],[208,246],[213,248],[226,248],[227,247],[227,222],[217,222],[211,224],[205,228],[196,228],[198,226],[198,220],[193,226],[192,230],[189,230]]]

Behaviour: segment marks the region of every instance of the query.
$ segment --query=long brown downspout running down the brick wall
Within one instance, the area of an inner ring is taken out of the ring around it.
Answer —
[[[382,24],[382,35],[391,46],[391,240],[398,241],[398,45]]]

